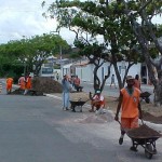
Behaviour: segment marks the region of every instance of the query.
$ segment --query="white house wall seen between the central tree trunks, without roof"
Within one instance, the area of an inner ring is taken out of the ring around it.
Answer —
[[[72,64],[68,64],[68,65],[64,66],[64,68],[63,68],[63,73],[64,75],[71,76],[71,73],[70,73],[70,66]],[[125,67],[127,67],[127,63],[119,62],[119,63],[117,63],[117,65],[118,65],[118,69],[119,69],[119,72],[121,75],[121,78],[123,79],[124,72],[125,72]],[[109,63],[105,63],[98,69],[97,75],[98,75],[100,81],[103,81],[104,77],[108,73],[108,67],[109,66],[110,66]],[[94,65],[92,65],[92,64],[87,64],[87,65],[84,65],[84,66],[76,66],[76,73],[75,75],[77,75],[81,79],[81,81],[93,82],[93,69],[94,69]],[[139,77],[140,77],[140,70],[141,70],[141,64],[140,63],[135,64],[130,68],[129,75],[131,75],[133,77],[135,77],[135,75],[139,75]],[[116,77],[113,66],[111,66],[110,77],[107,79],[106,84],[111,83],[111,76],[112,75],[114,75],[114,82],[116,82],[116,84],[118,84],[118,80],[117,80],[117,77]]]

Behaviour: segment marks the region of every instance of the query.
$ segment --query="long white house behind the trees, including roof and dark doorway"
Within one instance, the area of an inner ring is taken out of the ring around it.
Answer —
[[[127,63],[119,62],[119,63],[117,63],[117,65],[118,65],[121,78],[123,78]],[[98,69],[97,75],[100,80],[103,80],[104,77],[107,75],[109,66],[110,66],[109,63],[105,63]],[[89,60],[80,60],[79,63],[76,63],[76,64],[64,65],[62,71],[63,71],[63,75],[78,76],[81,79],[81,81],[93,82],[93,69],[94,69],[94,65],[89,64]],[[111,71],[110,76],[114,75],[114,81],[118,84],[113,66],[111,66],[110,71]],[[139,75],[143,83],[147,84],[149,82],[148,81],[148,70],[147,70],[147,67],[145,64],[137,63],[137,64],[133,65],[129,70],[129,75],[134,76],[134,77],[135,77],[135,75]],[[107,79],[106,84],[110,84],[110,82],[111,82],[111,77],[109,77]]]

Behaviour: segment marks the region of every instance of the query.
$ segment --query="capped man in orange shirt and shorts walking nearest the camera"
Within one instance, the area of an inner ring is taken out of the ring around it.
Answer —
[[[140,108],[140,90],[134,86],[134,78],[132,76],[126,77],[127,86],[120,90],[119,104],[117,107],[116,121],[119,121],[119,112],[121,109],[121,136],[119,138],[119,145],[123,144],[123,137],[125,131],[130,129],[138,127],[138,119],[141,119]],[[137,151],[137,148],[133,146],[130,148],[132,151]]]

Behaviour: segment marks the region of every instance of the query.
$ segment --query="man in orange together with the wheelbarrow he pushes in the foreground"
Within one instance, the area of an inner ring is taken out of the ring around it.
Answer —
[[[119,138],[119,145],[123,144],[125,133],[132,139],[132,147],[130,150],[137,151],[137,146],[145,147],[146,153],[149,158],[157,152],[156,140],[160,137],[160,134],[153,134],[151,136],[143,136],[140,133],[138,136],[134,135],[131,131],[138,129],[138,119],[143,119],[140,108],[140,91],[134,87],[134,78],[132,76],[126,77],[127,86],[120,91],[119,104],[117,107],[117,113],[114,120],[119,122],[119,112],[121,110],[121,136]],[[145,132],[145,131],[144,131]],[[151,154],[151,156],[150,156]]]

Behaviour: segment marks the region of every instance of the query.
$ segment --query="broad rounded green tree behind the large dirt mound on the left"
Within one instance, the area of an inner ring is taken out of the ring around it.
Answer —
[[[26,65],[26,72],[33,72],[38,76],[46,58],[59,53],[59,45],[64,50],[69,48],[60,36],[43,33],[42,36],[33,36],[30,39],[23,38],[0,45],[0,53],[3,54],[3,57],[10,57],[10,59],[13,57],[12,62],[16,60],[22,65]]]

